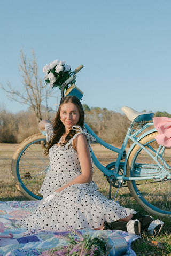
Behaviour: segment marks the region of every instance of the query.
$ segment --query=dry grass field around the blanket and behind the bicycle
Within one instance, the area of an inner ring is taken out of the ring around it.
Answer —
[[[0,144],[0,201],[27,200],[27,198],[22,196],[17,188],[15,188],[11,175],[11,159],[17,146],[17,144]],[[116,157],[115,154],[104,150],[103,147],[98,144],[94,144],[92,147],[103,165],[107,165]],[[108,197],[109,184],[106,177],[103,176],[103,173],[96,167],[94,169],[94,181],[98,185],[100,192]],[[115,192],[116,188],[113,188],[112,197],[114,197]],[[143,214],[147,214],[142,210],[141,206],[137,205],[127,186],[119,190],[116,200],[118,200],[122,206],[134,208]],[[153,217],[156,218],[156,216]],[[152,236],[147,232],[143,232],[141,238],[132,243],[131,247],[136,252],[137,256],[171,255],[171,218],[164,218],[162,220],[165,225],[160,236]],[[153,243],[153,241],[158,242],[158,244]]]

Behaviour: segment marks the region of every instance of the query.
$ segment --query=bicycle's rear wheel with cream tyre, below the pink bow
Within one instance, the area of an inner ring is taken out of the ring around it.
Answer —
[[[159,144],[154,138],[158,133],[154,132],[146,135],[139,141],[148,149],[153,156],[159,148]],[[158,161],[162,166],[171,172],[171,149],[162,147]],[[127,177],[146,177],[159,175],[160,167],[149,154],[135,145],[131,150],[127,161]],[[129,190],[137,203],[147,212],[159,216],[171,217],[171,180],[170,179],[150,179],[127,181]]]

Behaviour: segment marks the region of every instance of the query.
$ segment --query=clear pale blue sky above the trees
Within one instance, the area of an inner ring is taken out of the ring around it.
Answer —
[[[170,0],[5,0],[0,15],[0,83],[22,90],[20,49],[33,48],[40,76],[55,59],[75,69],[82,103],[171,113]],[[53,89],[53,94],[59,91]],[[27,106],[0,90],[11,112]],[[54,99],[55,100],[55,99]],[[53,103],[51,103],[53,105]]]

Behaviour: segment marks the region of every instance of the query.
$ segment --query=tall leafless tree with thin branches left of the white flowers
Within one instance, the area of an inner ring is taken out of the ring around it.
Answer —
[[[43,83],[41,77],[38,75],[38,65],[34,50],[32,50],[32,59],[27,59],[26,54],[21,50],[20,59],[21,64],[19,65],[19,72],[22,77],[24,89],[22,91],[13,89],[10,83],[8,89],[4,86],[1,88],[7,92],[8,98],[30,106],[35,113],[37,122],[42,120],[41,106],[44,102],[46,107],[46,119],[49,119],[49,87]]]

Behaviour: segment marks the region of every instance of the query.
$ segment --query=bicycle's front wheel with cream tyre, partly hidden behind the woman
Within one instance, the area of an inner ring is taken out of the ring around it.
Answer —
[[[30,200],[41,200],[39,191],[49,169],[44,156],[46,137],[41,133],[26,138],[12,157],[11,172],[17,189]]]

